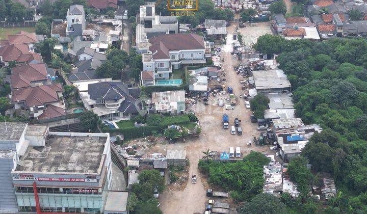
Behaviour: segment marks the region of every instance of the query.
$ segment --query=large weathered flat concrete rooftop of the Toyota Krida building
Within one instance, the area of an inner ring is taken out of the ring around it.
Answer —
[[[107,137],[51,136],[29,146],[15,171],[97,173]]]

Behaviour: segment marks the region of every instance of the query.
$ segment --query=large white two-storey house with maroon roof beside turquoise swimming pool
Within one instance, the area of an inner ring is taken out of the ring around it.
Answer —
[[[168,79],[172,69],[205,63],[205,46],[197,34],[165,34],[149,39],[149,53],[143,53],[143,72],[153,71],[155,79]]]

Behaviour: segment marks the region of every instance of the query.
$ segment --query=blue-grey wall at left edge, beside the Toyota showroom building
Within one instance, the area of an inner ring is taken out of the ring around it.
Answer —
[[[18,210],[18,204],[12,185],[12,177],[10,175],[13,167],[13,158],[0,158],[0,213],[16,213]]]

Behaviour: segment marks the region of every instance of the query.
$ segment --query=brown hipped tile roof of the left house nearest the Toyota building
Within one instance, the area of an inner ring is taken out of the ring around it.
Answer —
[[[25,106],[44,105],[50,102],[59,101],[57,92],[64,91],[62,84],[46,86],[35,86],[30,88],[16,89],[12,91],[12,101],[24,101]]]

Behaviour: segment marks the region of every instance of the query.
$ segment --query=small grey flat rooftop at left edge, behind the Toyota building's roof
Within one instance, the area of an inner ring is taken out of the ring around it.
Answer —
[[[0,141],[19,140],[27,123],[6,123],[0,122]]]

